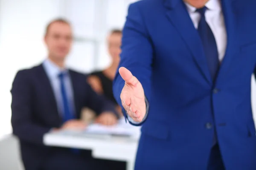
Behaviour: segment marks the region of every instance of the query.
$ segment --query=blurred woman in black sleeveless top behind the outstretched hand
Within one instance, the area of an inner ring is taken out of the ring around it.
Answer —
[[[116,104],[116,109],[119,111],[119,115],[122,116],[121,107],[117,104],[112,91],[112,82],[116,74],[117,67],[119,65],[122,31],[119,29],[113,29],[108,36],[108,53],[111,57],[111,65],[103,71],[95,71],[88,77],[88,82],[98,94],[103,94],[109,100]]]

